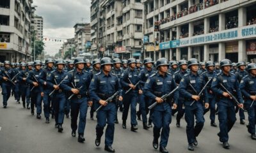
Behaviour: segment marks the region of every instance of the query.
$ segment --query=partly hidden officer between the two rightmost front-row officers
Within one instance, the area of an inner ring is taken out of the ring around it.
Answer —
[[[237,66],[237,71],[235,75],[237,77],[238,82],[240,83],[242,78],[248,74],[247,71],[245,70],[246,63],[244,61],[237,62],[236,66]],[[236,108],[238,109],[238,107]],[[245,116],[244,116],[244,111],[242,109],[239,109],[239,117],[240,117],[240,124],[244,124]]]

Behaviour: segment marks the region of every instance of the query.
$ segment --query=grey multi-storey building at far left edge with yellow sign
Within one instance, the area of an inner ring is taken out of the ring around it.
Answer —
[[[28,61],[31,58],[32,0],[0,1],[0,61]]]

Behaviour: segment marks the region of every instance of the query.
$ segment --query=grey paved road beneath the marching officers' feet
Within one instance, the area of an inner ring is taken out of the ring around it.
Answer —
[[[86,121],[84,143],[78,143],[77,137],[71,136],[70,119],[65,119],[63,133],[58,133],[54,128],[54,121],[45,123],[45,119],[36,119],[29,110],[22,108],[22,105],[15,103],[13,97],[8,101],[8,108],[2,107],[2,97],[0,99],[0,153],[9,152],[105,152],[104,138],[100,147],[95,147],[95,126],[96,121]],[[90,111],[90,110],[89,110]],[[88,115],[89,115],[88,111]],[[44,115],[42,115],[44,116]],[[122,119],[122,113],[118,112],[118,119]],[[175,127],[175,117],[171,124],[170,138],[167,149],[169,152],[190,152],[187,150],[186,122],[181,120],[181,128]],[[232,131],[230,131],[230,149],[222,148],[218,140],[219,128],[213,128],[209,123],[209,113],[205,115],[205,126],[198,137],[198,147],[195,152],[256,152],[256,141],[250,138],[246,126],[240,125],[237,121]],[[127,122],[129,122],[127,120]],[[246,120],[247,124],[248,120]],[[152,147],[152,128],[148,131],[142,128],[142,122],[138,121],[139,129],[137,133],[127,129],[122,129],[122,124],[115,126],[115,140],[113,148],[116,152],[158,152]]]

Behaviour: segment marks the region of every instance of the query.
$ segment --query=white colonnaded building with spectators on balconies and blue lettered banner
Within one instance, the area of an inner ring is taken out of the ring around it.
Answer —
[[[256,61],[256,3],[248,0],[145,0],[144,56]],[[159,31],[154,24],[159,24]]]

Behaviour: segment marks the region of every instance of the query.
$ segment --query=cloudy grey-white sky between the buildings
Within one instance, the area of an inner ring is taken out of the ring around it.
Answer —
[[[44,38],[73,38],[77,22],[90,22],[90,0],[34,0],[33,5],[36,15],[44,18]],[[56,54],[62,43],[45,41],[45,52]]]

